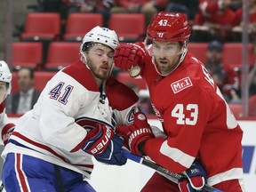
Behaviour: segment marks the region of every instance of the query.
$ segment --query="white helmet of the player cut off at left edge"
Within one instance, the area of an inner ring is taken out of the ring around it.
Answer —
[[[0,60],[0,81],[7,83],[7,94],[12,90],[12,73],[4,60]]]

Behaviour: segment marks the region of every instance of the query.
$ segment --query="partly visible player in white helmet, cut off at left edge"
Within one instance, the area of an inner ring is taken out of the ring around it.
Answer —
[[[4,60],[0,60],[0,131],[2,140],[0,143],[6,145],[15,125],[12,124],[6,113],[4,100],[12,90],[12,73]]]

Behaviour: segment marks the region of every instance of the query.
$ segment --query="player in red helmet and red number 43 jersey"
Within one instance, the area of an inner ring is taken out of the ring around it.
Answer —
[[[188,174],[189,189],[181,182],[180,191],[202,188],[204,180],[199,176],[204,176],[205,169],[205,181],[210,186],[225,192],[241,192],[243,131],[204,64],[188,52],[190,33],[184,14],[159,12],[148,25],[144,43],[117,47],[116,67],[146,80],[166,137],[155,138],[140,113],[135,114],[134,124],[117,131],[132,153],[149,156],[171,172]],[[194,175],[193,171],[199,174]],[[199,186],[197,181],[201,182]],[[179,188],[156,172],[141,191]]]

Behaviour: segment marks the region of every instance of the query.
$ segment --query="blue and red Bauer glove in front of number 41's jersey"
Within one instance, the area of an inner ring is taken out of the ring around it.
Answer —
[[[124,140],[116,135],[112,129],[97,124],[92,131],[88,132],[86,138],[82,149],[98,161],[116,165],[126,163],[127,159],[122,154]]]

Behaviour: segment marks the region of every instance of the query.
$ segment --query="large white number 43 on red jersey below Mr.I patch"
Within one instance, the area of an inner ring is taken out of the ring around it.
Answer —
[[[189,114],[189,116],[185,116],[184,112]],[[198,105],[188,104],[184,106],[183,104],[177,104],[175,108],[172,109],[172,116],[177,118],[176,124],[195,125],[198,118]]]

